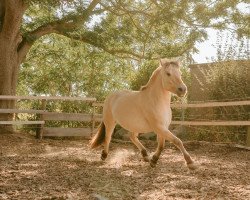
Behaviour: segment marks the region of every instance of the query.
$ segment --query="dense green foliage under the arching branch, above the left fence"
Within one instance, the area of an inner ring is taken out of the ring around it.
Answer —
[[[22,65],[19,94],[90,96],[102,101],[110,91],[128,87],[129,61],[63,36],[42,39]]]

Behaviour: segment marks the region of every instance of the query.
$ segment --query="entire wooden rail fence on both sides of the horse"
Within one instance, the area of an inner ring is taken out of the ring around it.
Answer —
[[[39,100],[41,101],[40,110],[19,110],[19,109],[0,109],[0,113],[27,113],[37,114],[38,121],[0,121],[0,124],[38,124],[40,125],[37,131],[37,137],[42,136],[91,136],[96,125],[102,119],[102,114],[96,113],[96,108],[102,107],[103,103],[96,102],[95,98],[82,97],[44,97],[44,96],[0,96],[0,100]],[[82,101],[89,102],[93,106],[92,113],[60,113],[48,112],[46,110],[47,101]],[[213,108],[213,107],[229,107],[229,106],[246,106],[250,105],[250,101],[233,101],[233,102],[207,102],[195,104],[171,104],[172,108],[186,109],[186,108]],[[46,127],[48,121],[78,121],[89,122],[91,126],[87,128],[58,128]],[[246,144],[250,146],[250,121],[172,121],[174,125],[183,126],[248,126]]]

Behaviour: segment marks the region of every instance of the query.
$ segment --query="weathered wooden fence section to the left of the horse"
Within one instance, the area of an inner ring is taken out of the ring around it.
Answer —
[[[37,138],[43,136],[62,137],[62,136],[85,136],[89,137],[94,128],[95,122],[101,121],[101,115],[93,113],[63,113],[63,112],[48,112],[46,105],[48,101],[81,101],[91,104],[96,101],[95,98],[83,97],[46,97],[46,96],[0,96],[0,100],[38,100],[40,101],[40,109],[0,109],[0,113],[9,114],[35,114],[35,121],[29,120],[12,120],[0,121],[0,125],[38,125]],[[92,126],[86,128],[62,128],[62,127],[47,127],[46,124],[50,121],[72,121],[72,122],[89,122]]]

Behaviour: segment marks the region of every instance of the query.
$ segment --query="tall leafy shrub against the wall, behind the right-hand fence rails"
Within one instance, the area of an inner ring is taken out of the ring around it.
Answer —
[[[250,99],[249,40],[238,39],[234,34],[218,35],[217,58],[206,73],[206,95],[212,101]],[[204,77],[203,77],[204,78]],[[250,118],[249,106],[232,106],[189,110],[187,120],[246,121]],[[243,143],[247,127],[191,127],[189,139]],[[194,133],[195,132],[195,133]]]

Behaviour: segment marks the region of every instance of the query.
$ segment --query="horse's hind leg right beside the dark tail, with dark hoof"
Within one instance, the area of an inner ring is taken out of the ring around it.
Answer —
[[[104,140],[104,149],[102,150],[102,154],[101,154],[101,159],[105,160],[108,156],[108,152],[109,152],[109,144],[111,141],[111,137],[112,137],[112,133],[114,131],[115,128],[115,122],[104,122],[105,124],[105,140]]]

